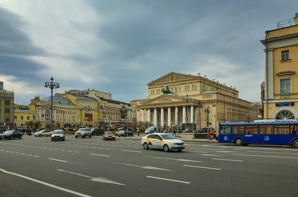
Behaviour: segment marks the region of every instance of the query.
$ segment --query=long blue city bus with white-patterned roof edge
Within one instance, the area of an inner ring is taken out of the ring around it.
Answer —
[[[219,143],[278,144],[298,148],[298,121],[219,123]]]

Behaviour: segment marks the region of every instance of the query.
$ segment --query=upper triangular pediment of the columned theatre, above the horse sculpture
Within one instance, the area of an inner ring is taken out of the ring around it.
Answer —
[[[167,75],[164,75],[150,83],[148,85],[155,85],[155,84],[162,84],[162,83],[169,83],[169,82],[175,82],[175,81],[183,81],[183,80],[193,80],[197,79],[197,76],[193,75],[187,75],[187,74],[179,74],[175,72],[171,72]]]

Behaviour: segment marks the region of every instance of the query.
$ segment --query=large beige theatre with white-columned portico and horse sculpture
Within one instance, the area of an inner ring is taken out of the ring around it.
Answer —
[[[175,127],[194,123],[198,129],[218,127],[219,122],[250,122],[258,119],[251,103],[238,98],[235,87],[197,76],[171,72],[148,85],[148,98],[131,101],[137,121],[154,126]],[[169,87],[170,94],[162,89]],[[209,113],[205,113],[208,109]],[[188,121],[187,121],[188,118]],[[209,124],[208,124],[209,123]]]

